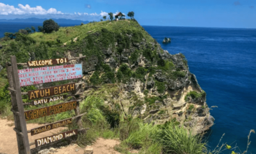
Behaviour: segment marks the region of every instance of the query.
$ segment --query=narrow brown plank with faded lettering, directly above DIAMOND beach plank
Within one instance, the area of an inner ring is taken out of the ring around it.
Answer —
[[[42,127],[36,127],[36,128],[31,129],[31,135],[36,135],[36,134],[40,134],[42,132],[46,132],[48,130],[52,130],[54,128],[63,127],[63,126],[68,125],[70,123],[72,123],[72,118],[63,119],[61,121],[57,121],[55,123],[50,123],[50,124],[44,125]]]

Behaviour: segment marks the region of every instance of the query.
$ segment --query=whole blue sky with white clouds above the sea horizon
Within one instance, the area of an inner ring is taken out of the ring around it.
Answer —
[[[109,12],[134,12],[142,26],[256,28],[256,0],[0,0],[0,19],[99,21]]]

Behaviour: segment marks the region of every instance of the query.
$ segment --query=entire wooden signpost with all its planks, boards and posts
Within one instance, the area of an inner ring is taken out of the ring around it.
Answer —
[[[23,107],[24,105],[40,105],[57,100],[65,100],[65,98],[68,98],[67,93],[71,93],[71,95],[76,96],[81,95],[81,78],[83,77],[83,63],[81,62],[81,58],[84,57],[85,56],[79,54],[79,58],[47,59],[17,64],[16,57],[11,56],[11,63],[6,63],[8,82],[10,85],[8,90],[11,92],[12,98],[11,111],[13,112],[15,121],[15,128],[13,128],[13,130],[15,130],[17,135],[17,143],[20,154],[30,154],[32,153],[31,151],[35,152],[35,150],[39,150],[40,147],[56,144],[56,142],[61,141],[61,139],[77,135],[78,132],[83,132],[83,130],[88,129],[82,128],[81,116],[86,113],[80,114],[78,100],[72,100],[70,102],[55,104],[48,107],[41,107],[30,111],[24,111]],[[80,64],[63,65],[64,63],[68,63],[68,61],[74,59],[79,59]],[[27,65],[28,68],[18,70],[17,65]],[[24,95],[24,93],[21,93],[21,86],[31,86],[34,84],[43,84],[47,82],[64,81],[70,79],[78,79],[78,83],[72,82],[69,84],[28,91],[28,93],[25,94],[28,95],[31,102],[27,104],[22,102],[22,95]],[[41,127],[27,130],[26,121],[30,119],[42,118],[44,116],[50,116],[52,114],[58,114],[71,110],[76,112],[76,116],[73,118],[63,119]],[[37,135],[54,128],[64,127],[65,125],[74,122],[77,123],[79,128],[78,130],[75,129],[62,132],[60,134],[43,137],[41,139],[36,139],[35,142],[29,143],[28,133],[31,133],[31,135]],[[30,146],[33,144],[35,144],[36,148],[30,149]]]

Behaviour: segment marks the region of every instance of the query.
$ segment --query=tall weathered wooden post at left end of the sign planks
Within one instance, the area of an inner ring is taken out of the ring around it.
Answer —
[[[10,89],[14,89],[11,91],[12,112],[15,121],[15,128],[13,130],[16,132],[19,154],[30,154],[28,132],[24,116],[18,67],[15,56],[11,56],[11,65],[6,63],[6,69]]]

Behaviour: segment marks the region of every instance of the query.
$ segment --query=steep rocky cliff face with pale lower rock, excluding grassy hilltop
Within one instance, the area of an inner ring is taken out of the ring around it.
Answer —
[[[205,102],[206,94],[196,76],[189,72],[183,54],[169,54],[151,36],[151,39],[141,37],[135,42],[133,37],[136,34],[122,31],[120,38],[118,35],[114,36],[114,42],[105,47],[100,45],[100,58],[90,56],[84,61],[84,80],[87,84],[92,84],[92,78],[97,76],[97,79],[102,79],[98,84],[105,85],[105,90],[86,91],[86,95],[97,93],[102,96],[104,93],[109,107],[115,108],[118,104],[126,115],[139,117],[148,123],[175,121],[177,125],[194,127],[197,134],[213,125],[214,118]],[[99,40],[102,32],[92,33],[91,36],[93,40]],[[122,40],[125,40],[125,45],[122,45]],[[88,42],[88,38],[84,42]],[[93,45],[97,44],[99,42],[93,42]],[[68,54],[75,56],[76,52]],[[115,80],[106,77],[109,72],[97,68],[101,62],[110,66]],[[111,88],[115,89],[114,92],[109,90]]]

